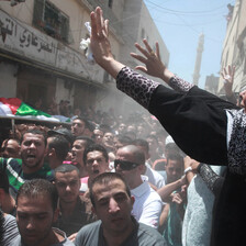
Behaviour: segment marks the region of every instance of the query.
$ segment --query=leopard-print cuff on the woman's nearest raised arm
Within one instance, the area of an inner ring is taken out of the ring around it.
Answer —
[[[148,109],[152,94],[159,85],[159,82],[155,82],[128,67],[122,68],[116,77],[118,89],[133,98],[145,109]]]

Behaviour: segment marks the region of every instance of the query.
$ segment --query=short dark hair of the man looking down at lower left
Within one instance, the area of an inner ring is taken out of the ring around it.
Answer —
[[[40,198],[41,195],[49,197],[52,208],[55,211],[57,208],[58,193],[55,186],[45,179],[25,181],[18,191],[16,204],[21,197]]]

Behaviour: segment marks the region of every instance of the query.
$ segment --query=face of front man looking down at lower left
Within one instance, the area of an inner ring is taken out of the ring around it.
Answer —
[[[53,211],[51,198],[47,195],[19,197],[16,222],[22,242],[26,246],[45,245],[45,242],[47,244],[53,236],[52,224],[56,219],[57,211]]]

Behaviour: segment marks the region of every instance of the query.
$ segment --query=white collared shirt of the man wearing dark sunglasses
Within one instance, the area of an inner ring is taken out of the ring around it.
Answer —
[[[142,176],[142,178],[143,183],[131,190],[132,195],[135,198],[132,215],[136,221],[157,228],[163,202],[159,194],[148,185],[147,177]]]

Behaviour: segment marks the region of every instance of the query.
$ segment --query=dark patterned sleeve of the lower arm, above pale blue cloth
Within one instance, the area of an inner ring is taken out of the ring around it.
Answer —
[[[208,186],[208,188],[214,193],[216,197],[222,188],[224,182],[224,178],[216,175],[212,168],[205,164],[200,164],[198,167],[198,172]]]

